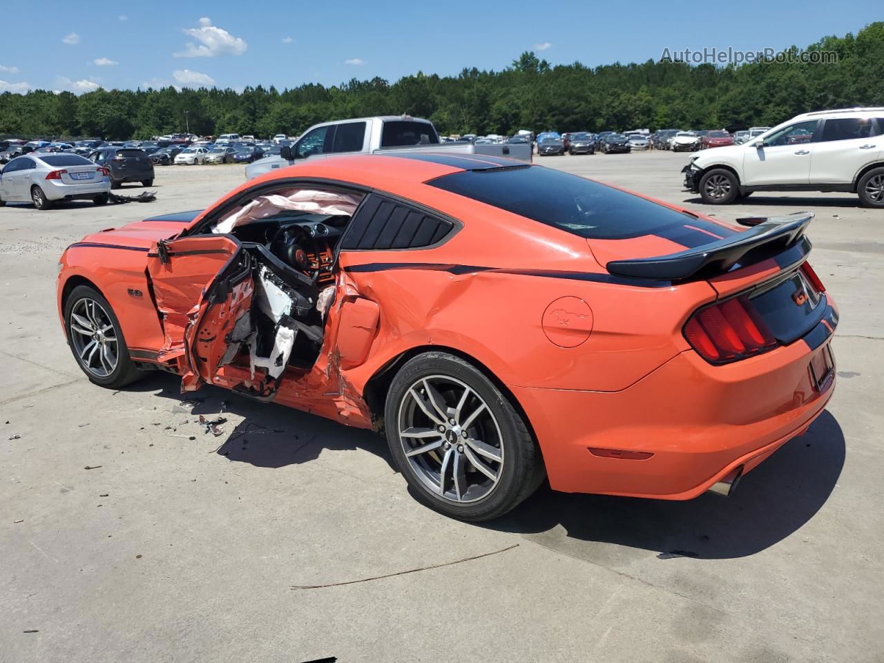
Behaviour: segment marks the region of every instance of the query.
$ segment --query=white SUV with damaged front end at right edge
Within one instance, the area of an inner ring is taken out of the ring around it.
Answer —
[[[723,205],[753,191],[847,191],[884,209],[884,108],[804,113],[743,145],[704,150],[684,186]]]

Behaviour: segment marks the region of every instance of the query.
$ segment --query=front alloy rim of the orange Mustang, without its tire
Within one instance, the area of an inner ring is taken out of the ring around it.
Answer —
[[[108,377],[117,368],[119,342],[108,312],[83,297],[71,309],[71,342],[83,368],[96,377]]]

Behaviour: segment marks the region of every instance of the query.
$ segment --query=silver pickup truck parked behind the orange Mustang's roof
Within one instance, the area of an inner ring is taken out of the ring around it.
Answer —
[[[480,144],[470,142],[440,143],[436,128],[427,119],[407,115],[377,118],[344,119],[311,126],[292,146],[284,146],[278,155],[267,156],[246,166],[246,179],[275,168],[285,168],[301,159],[354,154],[395,154],[403,150],[508,156],[531,160],[530,143]]]

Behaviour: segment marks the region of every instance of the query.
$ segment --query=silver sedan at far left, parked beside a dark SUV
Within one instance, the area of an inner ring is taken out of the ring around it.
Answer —
[[[0,171],[0,207],[7,202],[33,202],[37,210],[53,203],[90,200],[108,202],[110,172],[75,154],[18,156]]]

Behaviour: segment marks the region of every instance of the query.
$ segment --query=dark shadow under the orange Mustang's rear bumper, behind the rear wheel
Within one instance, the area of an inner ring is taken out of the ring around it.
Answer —
[[[663,555],[730,559],[765,550],[799,530],[834,489],[844,464],[841,426],[828,411],[743,477],[724,498],[689,501],[573,495],[541,488],[485,527],[518,534],[564,528],[568,538]]]

